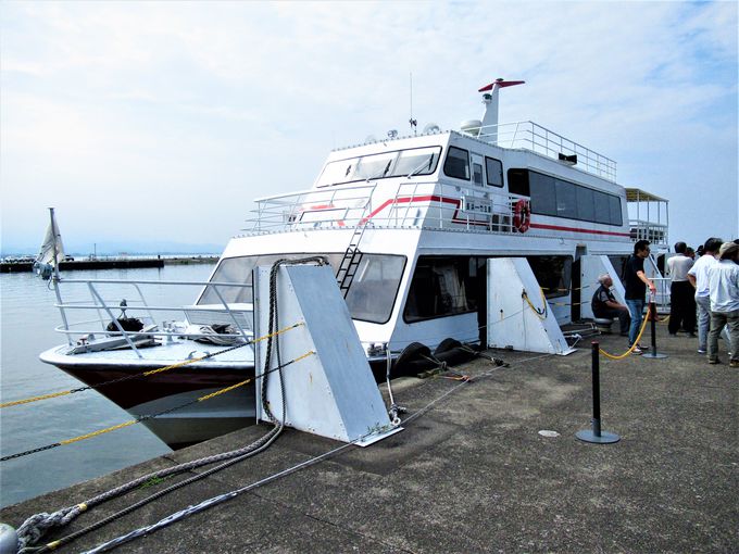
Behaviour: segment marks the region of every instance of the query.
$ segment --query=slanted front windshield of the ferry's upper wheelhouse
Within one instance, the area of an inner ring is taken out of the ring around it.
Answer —
[[[439,163],[441,147],[396,150],[329,162],[318,178],[318,187],[345,182],[431,175]]]

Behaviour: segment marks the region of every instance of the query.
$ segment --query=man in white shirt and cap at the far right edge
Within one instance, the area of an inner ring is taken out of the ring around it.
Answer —
[[[739,367],[739,244],[725,242],[718,250],[719,261],[709,270],[711,290],[711,332],[709,364],[718,364],[718,336],[725,326],[731,337],[731,367]]]

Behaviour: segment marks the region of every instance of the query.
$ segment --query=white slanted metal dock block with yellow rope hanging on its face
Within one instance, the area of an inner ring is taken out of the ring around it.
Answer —
[[[551,306],[525,257],[488,260],[488,345],[567,355]]]

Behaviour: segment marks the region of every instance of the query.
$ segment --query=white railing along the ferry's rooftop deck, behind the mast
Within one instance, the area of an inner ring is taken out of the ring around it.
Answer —
[[[503,148],[522,148],[565,163],[577,156],[575,167],[611,181],[616,180],[616,162],[534,122],[501,123],[465,129],[485,142]]]

